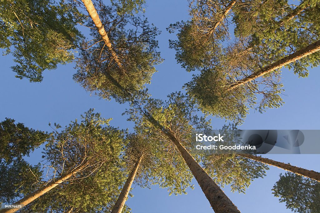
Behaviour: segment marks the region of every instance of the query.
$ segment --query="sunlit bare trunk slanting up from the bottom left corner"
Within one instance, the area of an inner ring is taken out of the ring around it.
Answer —
[[[36,200],[38,197],[40,197],[41,195],[44,195],[45,193],[49,192],[51,189],[53,189],[54,187],[58,186],[59,184],[61,184],[63,181],[68,180],[69,178],[71,178],[72,176],[74,176],[78,171],[81,171],[82,168],[77,169],[75,171],[71,171],[69,173],[67,173],[66,175],[53,180],[51,183],[49,183],[47,186],[41,187],[40,189],[34,191],[31,194],[28,194],[27,196],[25,196],[24,198],[22,198],[20,201],[15,202],[12,205],[21,205],[22,207],[28,205],[29,203],[31,203],[32,201]],[[21,208],[14,208],[14,209],[2,209],[0,210],[0,213],[13,213],[18,211]]]

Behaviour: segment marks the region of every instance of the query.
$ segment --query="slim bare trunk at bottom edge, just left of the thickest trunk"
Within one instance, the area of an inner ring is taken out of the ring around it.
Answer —
[[[129,191],[131,189],[131,185],[133,183],[134,177],[137,174],[138,168],[140,166],[140,162],[142,160],[142,156],[140,156],[140,158],[137,160],[137,162],[135,163],[131,173],[129,174],[127,180],[125,181],[125,184],[121,190],[121,193],[116,201],[115,206],[113,207],[111,213],[121,213],[122,209],[124,207],[124,203],[127,200]]]

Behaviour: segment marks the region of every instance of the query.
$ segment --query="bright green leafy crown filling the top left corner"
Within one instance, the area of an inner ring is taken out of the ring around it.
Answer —
[[[42,81],[45,69],[73,61],[81,33],[79,13],[71,4],[52,0],[1,0],[0,48],[12,51],[17,78]]]

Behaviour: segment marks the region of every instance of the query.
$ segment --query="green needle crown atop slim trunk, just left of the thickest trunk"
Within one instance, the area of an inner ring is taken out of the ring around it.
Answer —
[[[181,159],[177,162],[176,156],[160,147],[159,140],[154,139],[151,134],[143,133],[140,126],[136,126],[136,129],[140,131],[138,134],[127,136],[129,142],[124,156],[128,172],[132,171],[134,164],[142,157],[134,182],[141,187],[159,185],[161,188],[168,188],[169,195],[186,194],[185,190],[190,186],[192,176],[185,167],[180,168]]]

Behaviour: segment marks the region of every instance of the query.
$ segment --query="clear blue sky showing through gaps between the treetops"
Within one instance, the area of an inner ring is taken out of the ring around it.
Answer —
[[[158,65],[152,77],[149,92],[154,98],[164,99],[166,95],[180,90],[191,79],[192,73],[177,65],[175,51],[169,49],[168,40],[175,39],[165,28],[176,21],[188,19],[188,3],[179,1],[148,1],[146,16],[162,34],[157,37],[164,63]],[[72,80],[75,73],[74,64],[59,66],[57,70],[45,71],[41,83],[29,83],[14,77],[11,71],[12,57],[1,56],[0,78],[0,120],[14,118],[28,127],[51,131],[49,122],[68,125],[70,120],[79,118],[89,108],[95,108],[105,118],[113,118],[112,126],[131,128],[132,124],[121,116],[127,104],[119,105],[114,101],[99,100],[90,96],[80,85]],[[308,78],[302,79],[288,70],[283,70],[285,104],[279,109],[267,110],[260,114],[251,111],[241,129],[320,129],[319,112],[319,68],[310,70]],[[212,126],[220,128],[225,122],[212,118]],[[319,139],[315,139],[319,140]],[[42,149],[39,148],[29,158],[33,164],[40,160]],[[268,158],[297,165],[306,169],[320,171],[319,155],[268,155]],[[224,191],[242,212],[291,212],[279,203],[271,193],[271,188],[283,170],[272,167],[264,179],[253,181],[246,194],[231,193],[229,187]],[[166,189],[153,186],[151,190],[134,187],[127,204],[133,212],[213,212],[200,187],[194,181],[195,189],[188,190],[187,195],[168,196]]]

